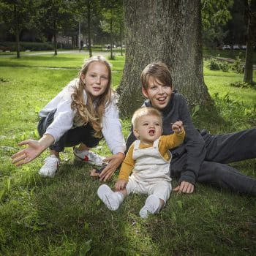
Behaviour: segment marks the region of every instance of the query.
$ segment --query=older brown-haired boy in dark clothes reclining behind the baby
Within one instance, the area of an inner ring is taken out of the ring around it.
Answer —
[[[201,182],[256,195],[256,179],[226,165],[256,157],[255,128],[224,135],[210,135],[206,129],[199,132],[192,123],[186,99],[173,91],[170,71],[162,62],[148,64],[141,74],[141,83],[147,98],[143,106],[162,113],[164,135],[170,134],[169,124],[176,120],[182,120],[186,127],[184,143],[171,151],[170,177],[179,178],[175,191],[192,193],[196,182]],[[130,132],[127,148],[135,139]]]

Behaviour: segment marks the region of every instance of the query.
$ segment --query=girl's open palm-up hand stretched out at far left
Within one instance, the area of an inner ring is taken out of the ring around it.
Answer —
[[[28,145],[26,148],[12,155],[12,164],[16,166],[27,164],[39,156],[45,148],[37,140],[23,140],[18,146]]]

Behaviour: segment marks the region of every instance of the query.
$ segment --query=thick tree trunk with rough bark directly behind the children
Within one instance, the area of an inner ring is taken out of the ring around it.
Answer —
[[[118,87],[122,116],[140,107],[140,73],[152,61],[170,68],[173,86],[190,106],[207,105],[203,81],[200,0],[124,0],[126,61]]]

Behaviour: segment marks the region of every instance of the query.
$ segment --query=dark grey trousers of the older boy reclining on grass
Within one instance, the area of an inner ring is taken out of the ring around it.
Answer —
[[[197,182],[256,195],[256,178],[246,176],[227,165],[256,158],[256,129],[226,135],[205,134],[203,138],[206,141],[206,158],[200,167]],[[172,173],[177,174],[177,170],[181,173],[186,163],[186,152],[174,158],[170,164],[171,176]]]

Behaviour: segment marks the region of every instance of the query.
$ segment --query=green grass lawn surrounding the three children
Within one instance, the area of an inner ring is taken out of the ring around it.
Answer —
[[[131,195],[118,211],[108,211],[91,166],[73,162],[70,148],[53,179],[37,174],[46,152],[29,165],[11,164],[17,143],[37,138],[38,110],[78,74],[84,57],[0,57],[0,255],[254,255],[254,197],[198,184],[193,195],[173,193],[160,214],[143,220],[138,212],[146,196]],[[116,87],[124,57],[111,62]],[[255,127],[256,90],[227,85],[241,75],[205,66],[205,80],[221,118],[200,109],[197,127],[211,133]],[[129,120],[122,124],[127,136]],[[104,140],[96,151],[110,154]],[[256,178],[255,159],[234,166]]]

